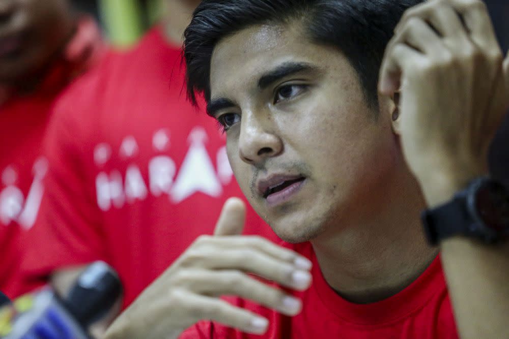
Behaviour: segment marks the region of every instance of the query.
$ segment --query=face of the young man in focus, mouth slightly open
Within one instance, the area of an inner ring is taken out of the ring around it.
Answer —
[[[228,126],[237,181],[287,241],[313,239],[362,213],[397,162],[390,119],[366,105],[346,57],[310,43],[297,24],[221,40],[210,82],[209,112]]]

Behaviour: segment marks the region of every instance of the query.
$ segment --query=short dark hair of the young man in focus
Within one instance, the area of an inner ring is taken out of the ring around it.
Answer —
[[[341,50],[357,71],[367,102],[378,106],[378,73],[403,12],[422,0],[204,0],[184,33],[187,95],[210,100],[210,61],[216,44],[244,28],[300,20],[317,44]]]

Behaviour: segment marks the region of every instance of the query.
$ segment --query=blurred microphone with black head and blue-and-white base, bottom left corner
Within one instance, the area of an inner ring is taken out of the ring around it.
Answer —
[[[66,296],[45,288],[0,309],[4,318],[0,338],[90,339],[86,329],[107,314],[121,290],[117,273],[104,262],[95,262]]]

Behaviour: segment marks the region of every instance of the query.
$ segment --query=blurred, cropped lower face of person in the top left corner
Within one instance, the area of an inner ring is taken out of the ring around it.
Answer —
[[[0,0],[0,83],[39,72],[71,30],[67,0]]]

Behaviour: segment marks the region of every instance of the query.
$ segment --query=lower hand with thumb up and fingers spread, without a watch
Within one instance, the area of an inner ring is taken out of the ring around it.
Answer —
[[[200,320],[213,320],[248,333],[264,333],[268,320],[221,300],[250,299],[282,314],[300,312],[301,302],[247,273],[295,290],[311,283],[306,259],[256,236],[240,236],[245,206],[229,199],[213,236],[201,236],[108,329],[106,338],[176,338]],[[150,329],[150,330],[149,330]]]

